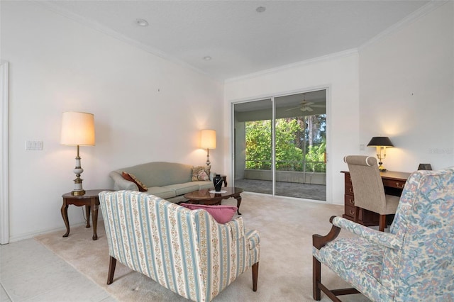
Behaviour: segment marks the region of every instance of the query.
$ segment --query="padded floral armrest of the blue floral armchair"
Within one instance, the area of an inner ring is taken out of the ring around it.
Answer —
[[[364,225],[360,225],[359,223],[355,223],[345,218],[333,218],[333,225],[338,228],[348,230],[355,235],[376,243],[377,245],[389,247],[394,250],[399,250],[402,247],[402,240],[400,240],[396,235],[367,228]]]

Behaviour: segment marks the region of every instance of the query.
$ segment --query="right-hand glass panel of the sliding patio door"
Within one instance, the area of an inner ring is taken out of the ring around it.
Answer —
[[[326,91],[275,98],[275,195],[326,201]]]

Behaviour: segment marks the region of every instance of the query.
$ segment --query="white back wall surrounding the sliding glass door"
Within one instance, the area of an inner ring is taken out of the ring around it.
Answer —
[[[224,132],[231,131],[231,103],[265,96],[286,94],[292,91],[328,88],[328,166],[327,201],[343,203],[344,155],[358,153],[358,54],[345,52],[314,62],[276,69],[226,82]],[[224,144],[231,154],[231,141]],[[229,149],[230,148],[230,149]],[[231,159],[226,157],[226,170],[231,171]],[[230,173],[231,174],[231,173]]]

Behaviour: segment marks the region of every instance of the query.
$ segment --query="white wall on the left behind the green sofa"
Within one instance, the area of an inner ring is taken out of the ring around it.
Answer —
[[[10,64],[10,240],[64,229],[75,147],[60,145],[63,111],[94,113],[96,146],[81,147],[84,189],[149,161],[202,165],[199,130],[218,131],[223,172],[223,84],[29,1],[1,1],[1,60]],[[26,151],[42,140],[42,151]],[[71,225],[83,222],[70,206]]]

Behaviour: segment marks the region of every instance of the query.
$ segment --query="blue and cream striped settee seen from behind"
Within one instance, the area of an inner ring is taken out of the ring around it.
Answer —
[[[219,224],[204,210],[191,211],[138,191],[101,192],[109,243],[109,275],[116,261],[192,301],[211,301],[252,267],[257,290],[260,235],[243,218]]]

